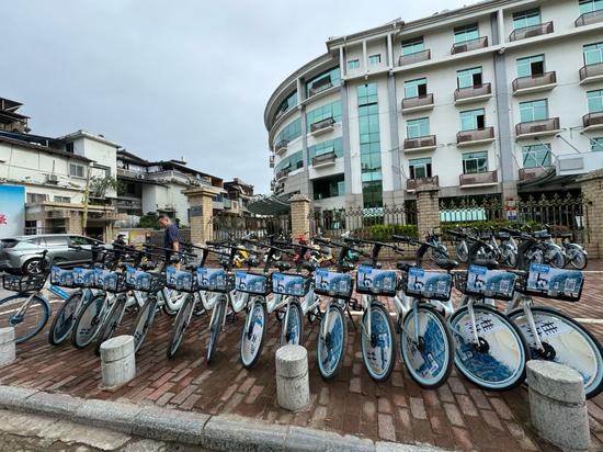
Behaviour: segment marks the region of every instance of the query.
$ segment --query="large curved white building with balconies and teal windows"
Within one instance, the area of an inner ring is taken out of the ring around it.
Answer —
[[[483,1],[327,50],[268,102],[277,194],[379,206],[435,182],[442,197],[515,196],[603,166],[601,0]]]

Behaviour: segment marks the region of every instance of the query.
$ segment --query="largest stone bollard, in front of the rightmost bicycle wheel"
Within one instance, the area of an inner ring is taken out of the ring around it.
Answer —
[[[532,425],[539,436],[561,449],[590,447],[589,414],[582,376],[550,361],[527,362]]]

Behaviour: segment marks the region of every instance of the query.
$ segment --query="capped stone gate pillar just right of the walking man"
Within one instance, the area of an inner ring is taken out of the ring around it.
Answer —
[[[203,246],[214,237],[214,197],[220,192],[217,187],[200,187],[185,190],[191,212],[191,241]]]

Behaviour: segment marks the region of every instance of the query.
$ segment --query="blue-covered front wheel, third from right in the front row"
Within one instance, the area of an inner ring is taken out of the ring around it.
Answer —
[[[400,335],[402,360],[408,373],[420,386],[435,388],[448,378],[454,347],[444,318],[428,306],[410,310],[403,319]]]

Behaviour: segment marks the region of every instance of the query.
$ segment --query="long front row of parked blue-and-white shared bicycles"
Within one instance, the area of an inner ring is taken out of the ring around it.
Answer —
[[[207,316],[207,340],[198,344],[207,362],[219,359],[220,336],[239,325],[240,361],[252,369],[274,314],[281,346],[305,344],[306,323],[318,323],[317,360],[325,380],[333,378],[350,354],[352,327],[360,335],[364,366],[376,382],[390,376],[399,348],[409,375],[425,388],[445,383],[455,365],[481,388],[507,391],[524,382],[528,360],[539,359],[576,369],[587,397],[599,394],[601,344],[562,310],[539,304],[547,298],[578,302],[584,285],[579,270],[528,258],[547,231],[502,228],[494,239],[462,229],[447,234],[457,252],[458,244],[465,244],[466,270],[457,269],[439,234],[425,240],[392,235],[388,241],[350,235],[296,242],[244,237],[186,245],[178,253],[150,246],[93,248],[89,268],[47,262],[42,276],[4,276],[4,287],[23,298],[20,308],[11,309],[9,323],[23,327],[18,341],[44,328],[49,310],[44,314],[41,281],[50,276],[54,287],[68,290],[49,328],[54,346],[70,339],[76,348],[95,344],[98,351],[133,315],[128,328],[138,351],[162,312],[173,316],[166,344],[172,358],[186,335],[201,328],[195,318]],[[498,241],[505,235],[516,244],[517,262],[509,267],[519,270],[500,268],[510,263]],[[413,259],[402,260],[409,249]],[[401,260],[382,267],[383,250]],[[455,303],[453,287],[460,293]],[[237,316],[243,320],[235,324]],[[2,313],[0,321],[5,323]],[[225,328],[228,323],[232,328]]]

